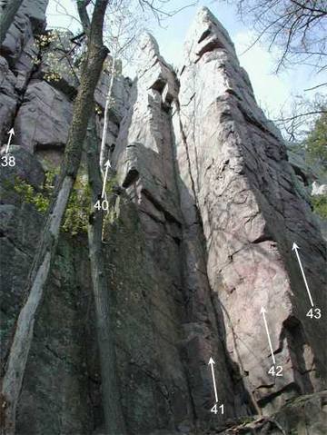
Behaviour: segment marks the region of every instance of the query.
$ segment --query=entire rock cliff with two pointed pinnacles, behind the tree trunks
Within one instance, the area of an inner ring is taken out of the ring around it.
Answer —
[[[44,219],[17,183],[41,192],[60,164],[76,93],[74,77],[47,74],[35,44],[46,35],[46,5],[26,2],[1,47],[1,143],[15,128],[15,166],[0,174],[4,368]],[[326,246],[281,134],[208,9],[195,17],[177,74],[152,35],[139,59],[133,82],[114,78],[107,154],[124,193],[104,234],[128,433],[323,434]],[[109,85],[104,70],[99,137]],[[307,316],[294,242],[317,318]],[[86,238],[63,232],[18,435],[104,434],[97,352]]]

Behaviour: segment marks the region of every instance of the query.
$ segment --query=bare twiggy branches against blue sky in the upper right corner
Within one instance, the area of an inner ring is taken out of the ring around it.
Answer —
[[[281,49],[277,73],[282,67],[302,64],[303,60],[308,62],[309,59],[316,74],[326,67],[327,2],[230,0],[229,3],[237,5],[243,22],[250,23],[256,32],[255,40],[246,51],[263,39],[268,42],[269,50]]]

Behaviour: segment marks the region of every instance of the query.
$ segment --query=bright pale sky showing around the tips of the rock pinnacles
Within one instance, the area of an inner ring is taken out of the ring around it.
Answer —
[[[179,9],[190,5],[192,1],[171,0],[169,7]],[[50,0],[47,10],[48,27],[63,26],[76,31],[79,25],[65,14],[66,11],[76,16],[74,1],[60,0],[65,8],[59,10],[60,14],[57,3],[58,0]],[[297,65],[293,70],[283,71],[278,75],[273,74],[277,52],[269,53],[264,44],[254,44],[244,53],[253,41],[253,29],[240,21],[233,5],[219,0],[198,0],[196,5],[186,7],[173,17],[165,19],[161,26],[157,25],[155,19],[150,20],[151,33],[158,41],[161,54],[169,64],[179,66],[185,35],[201,6],[209,7],[227,29],[235,44],[240,63],[250,76],[257,102],[270,118],[278,117],[282,107],[287,109],[292,101],[292,95],[302,94],[303,89],[322,82],[322,77],[314,76],[310,68],[304,65]],[[130,69],[125,71],[125,74],[133,75],[134,71]]]

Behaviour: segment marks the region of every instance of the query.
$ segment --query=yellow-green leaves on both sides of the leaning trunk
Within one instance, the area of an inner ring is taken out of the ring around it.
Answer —
[[[24,180],[16,177],[14,190],[20,195],[22,201],[35,205],[40,213],[46,213],[52,193],[54,191],[54,179],[57,171],[45,173],[45,185],[42,192],[36,192],[35,188]],[[69,202],[64,213],[62,230],[71,235],[87,232],[91,193],[88,180],[85,175],[79,174],[74,183]]]

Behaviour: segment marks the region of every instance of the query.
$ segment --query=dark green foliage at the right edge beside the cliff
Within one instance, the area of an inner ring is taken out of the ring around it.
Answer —
[[[316,120],[305,144],[312,161],[322,163],[327,169],[327,113],[321,114]]]

